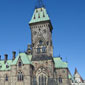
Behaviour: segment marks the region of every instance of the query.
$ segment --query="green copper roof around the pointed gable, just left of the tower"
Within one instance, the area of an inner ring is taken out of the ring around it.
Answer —
[[[19,58],[22,60],[23,64],[31,64],[31,61],[30,61],[31,55],[27,55],[26,53],[20,53],[16,57],[16,59],[13,61],[12,65],[17,64]]]

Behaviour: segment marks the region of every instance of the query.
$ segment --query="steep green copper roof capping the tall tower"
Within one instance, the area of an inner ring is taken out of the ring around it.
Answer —
[[[41,21],[48,21],[48,20],[50,20],[50,18],[47,14],[46,9],[44,7],[37,8],[37,9],[35,9],[32,19],[29,22],[29,24],[41,22]]]

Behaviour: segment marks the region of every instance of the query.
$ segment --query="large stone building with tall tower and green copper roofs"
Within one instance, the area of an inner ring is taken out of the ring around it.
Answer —
[[[53,57],[53,26],[45,7],[35,8],[29,22],[32,44],[13,59],[0,57],[0,85],[71,85],[68,63]],[[74,85],[74,84],[73,84]]]

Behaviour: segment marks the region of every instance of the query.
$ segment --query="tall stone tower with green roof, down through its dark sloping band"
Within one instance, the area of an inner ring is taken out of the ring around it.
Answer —
[[[32,60],[41,59],[41,57],[44,58],[46,56],[51,58],[53,56],[53,27],[45,7],[34,10],[29,25],[32,35]]]

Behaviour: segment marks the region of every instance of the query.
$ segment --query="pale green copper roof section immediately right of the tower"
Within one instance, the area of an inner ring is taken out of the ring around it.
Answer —
[[[55,62],[55,68],[68,68],[68,63],[63,62],[60,57],[53,58]]]

